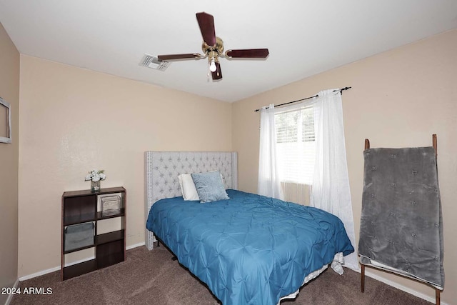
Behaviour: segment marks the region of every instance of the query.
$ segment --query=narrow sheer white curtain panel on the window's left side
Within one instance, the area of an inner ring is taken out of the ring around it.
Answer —
[[[273,104],[270,104],[268,108],[263,107],[260,111],[257,192],[259,195],[283,199],[276,161],[276,130]]]

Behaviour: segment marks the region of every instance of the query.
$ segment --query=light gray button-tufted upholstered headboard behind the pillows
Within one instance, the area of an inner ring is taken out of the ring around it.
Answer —
[[[145,151],[146,218],[154,202],[181,196],[179,174],[220,171],[226,189],[238,189],[238,162],[231,151]],[[146,246],[154,249],[154,234],[146,229]]]

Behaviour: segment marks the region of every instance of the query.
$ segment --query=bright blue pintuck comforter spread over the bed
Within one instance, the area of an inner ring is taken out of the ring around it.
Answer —
[[[146,223],[224,305],[277,304],[336,253],[353,252],[343,223],[326,211],[227,193],[206,204],[161,199]]]

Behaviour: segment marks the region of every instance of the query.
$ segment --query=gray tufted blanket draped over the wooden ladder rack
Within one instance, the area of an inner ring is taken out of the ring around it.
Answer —
[[[366,149],[361,264],[443,290],[443,221],[433,147]]]

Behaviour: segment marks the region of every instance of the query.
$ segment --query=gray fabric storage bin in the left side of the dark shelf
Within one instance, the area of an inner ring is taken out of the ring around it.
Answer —
[[[64,231],[64,250],[71,251],[94,245],[94,235],[94,222],[66,226]]]

